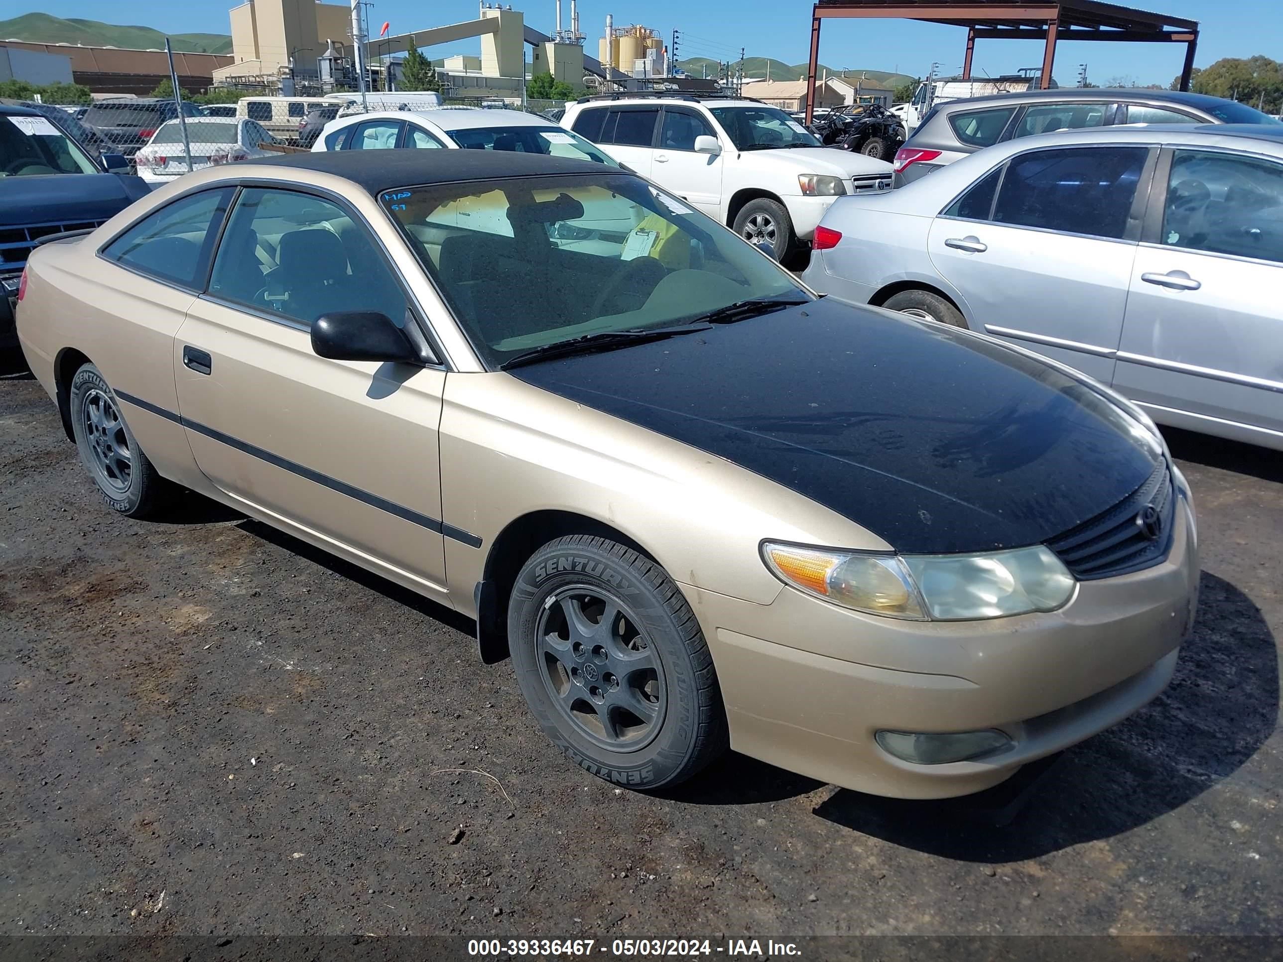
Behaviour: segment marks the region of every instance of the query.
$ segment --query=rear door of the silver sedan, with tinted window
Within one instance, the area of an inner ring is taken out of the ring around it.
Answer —
[[[1139,240],[1138,186],[1153,154],[1143,145],[1030,150],[947,207],[928,250],[976,328],[1109,384]]]

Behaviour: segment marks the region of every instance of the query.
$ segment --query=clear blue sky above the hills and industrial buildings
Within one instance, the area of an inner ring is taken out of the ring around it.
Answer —
[[[507,0],[506,0],[507,3]],[[133,22],[174,33],[192,31],[228,32],[225,0],[189,0],[185,4],[119,5],[106,0],[49,0],[40,8],[23,0],[14,14],[40,9],[56,17],[85,17],[110,23]],[[513,6],[526,14],[526,22],[550,31],[554,0],[513,0]],[[1142,8],[1202,22],[1197,65],[1223,56],[1266,54],[1279,56],[1283,37],[1283,3],[1279,0],[1236,0],[1211,4],[1207,0],[1144,0]],[[13,9],[13,8],[10,8]],[[570,0],[563,10],[568,17]],[[421,0],[377,0],[370,8],[370,22],[391,22],[393,32],[453,23],[476,17],[476,0],[438,0],[427,5]],[[595,38],[602,35],[606,14],[615,14],[616,26],[640,22],[661,31],[665,38],[676,27],[686,37],[681,56],[735,59],[743,46],[748,56],[774,56],[786,63],[807,58],[811,32],[811,3],[795,0],[712,0],[692,4],[689,0],[585,0],[580,5],[580,27],[589,36],[589,51],[595,55]],[[568,26],[568,24],[567,24]],[[907,21],[865,22],[826,21],[821,33],[820,59],[830,67],[858,67],[925,74],[933,60],[946,72],[962,65],[966,32],[961,27],[943,27]],[[434,50],[435,56],[449,53],[475,53],[479,41],[464,41],[449,49]],[[1182,45],[1166,44],[1060,44],[1056,49],[1056,80],[1073,83],[1078,64],[1088,64],[1088,76],[1105,85],[1114,78],[1133,78],[1139,83],[1168,83],[1180,72],[1184,56]],[[1010,73],[1021,67],[1042,63],[1042,45],[1035,41],[988,41],[976,46],[975,72]]]

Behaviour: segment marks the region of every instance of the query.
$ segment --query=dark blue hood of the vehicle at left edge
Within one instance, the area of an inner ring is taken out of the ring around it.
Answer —
[[[0,177],[0,226],[105,221],[148,190],[139,177],[114,173]]]

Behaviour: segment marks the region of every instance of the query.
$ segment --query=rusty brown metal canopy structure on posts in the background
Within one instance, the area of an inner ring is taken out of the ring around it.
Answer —
[[[966,27],[962,78],[971,78],[976,40],[1042,40],[1042,87],[1051,86],[1058,40],[1115,40],[1123,42],[1184,44],[1180,89],[1198,45],[1198,21],[1134,10],[1097,0],[817,0],[811,14],[811,64],[807,69],[806,119],[815,105],[816,65],[820,62],[820,23],[825,19],[908,19]]]

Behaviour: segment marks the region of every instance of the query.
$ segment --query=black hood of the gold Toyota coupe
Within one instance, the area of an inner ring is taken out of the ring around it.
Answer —
[[[905,553],[1046,541],[1161,457],[1056,368],[831,300],[512,375],[777,481]]]

